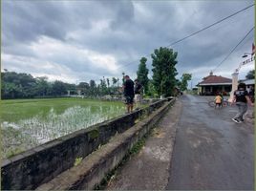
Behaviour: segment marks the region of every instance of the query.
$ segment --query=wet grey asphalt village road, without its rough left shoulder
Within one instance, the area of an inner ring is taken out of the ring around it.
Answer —
[[[203,96],[182,96],[167,190],[253,190],[252,124],[231,120],[236,107],[214,110]]]

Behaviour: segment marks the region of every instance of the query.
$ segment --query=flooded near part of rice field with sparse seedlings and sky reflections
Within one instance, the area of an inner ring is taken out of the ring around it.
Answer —
[[[75,105],[62,113],[51,108],[48,113],[41,112],[30,118],[15,122],[3,121],[1,129],[4,157],[7,158],[123,113],[124,107],[117,104]]]

